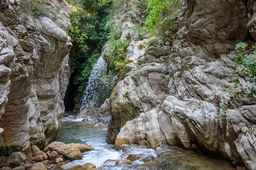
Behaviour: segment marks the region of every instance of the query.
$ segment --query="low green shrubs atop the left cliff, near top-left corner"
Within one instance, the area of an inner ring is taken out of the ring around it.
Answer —
[[[46,0],[23,0],[18,8],[19,13],[26,13],[36,18],[39,15],[49,16]]]

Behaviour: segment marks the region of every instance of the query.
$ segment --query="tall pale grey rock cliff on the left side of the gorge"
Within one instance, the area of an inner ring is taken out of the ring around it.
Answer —
[[[34,18],[18,12],[20,3],[0,0],[0,143],[29,153],[31,144],[43,149],[60,129],[71,11],[64,0],[47,0],[49,17]]]

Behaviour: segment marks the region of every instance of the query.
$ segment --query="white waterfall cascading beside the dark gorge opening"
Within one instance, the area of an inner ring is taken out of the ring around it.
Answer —
[[[103,104],[102,97],[104,98],[104,96],[100,95],[102,95],[101,92],[104,91],[105,87],[99,78],[106,74],[106,65],[106,61],[101,56],[95,66],[93,66],[78,115],[90,115],[95,111],[96,107]],[[101,97],[101,100],[99,100],[99,97]]]

